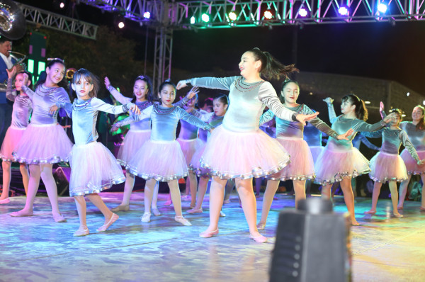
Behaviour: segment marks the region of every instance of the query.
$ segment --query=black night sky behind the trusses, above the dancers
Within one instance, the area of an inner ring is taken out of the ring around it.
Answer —
[[[54,11],[51,0],[21,0],[31,6]],[[56,13],[67,13],[55,10]],[[79,18],[98,25],[113,25],[111,13],[101,13],[84,4],[77,6]],[[75,14],[74,14],[75,15]],[[297,40],[294,33],[297,30]],[[146,27],[127,23],[120,30],[138,41],[143,60]],[[149,57],[153,61],[153,31],[149,31]],[[296,62],[305,72],[327,72],[394,80],[425,95],[425,21],[390,23],[340,23],[317,26],[176,30],[173,67],[189,72],[213,69],[237,71],[242,53],[252,47],[271,52],[280,62]],[[296,43],[295,43],[296,42]],[[293,46],[296,45],[296,57]]]

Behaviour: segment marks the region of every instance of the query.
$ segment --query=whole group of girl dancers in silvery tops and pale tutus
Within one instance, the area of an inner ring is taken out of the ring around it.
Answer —
[[[239,62],[238,77],[193,78],[179,81],[177,85],[164,81],[157,94],[146,76],[135,79],[132,98],[120,94],[106,77],[106,88],[123,104],[121,106],[112,106],[96,98],[100,81],[86,69],[79,69],[74,74],[71,85],[77,98],[71,102],[65,90],[65,69],[64,61],[60,58],[50,60],[45,80],[38,81],[34,91],[30,88],[28,72],[16,74],[14,68],[8,71],[6,95],[14,104],[11,127],[6,132],[0,151],[4,169],[0,204],[10,201],[11,162],[19,162],[26,187],[26,205],[23,210],[10,215],[33,215],[33,203],[41,178],[52,205],[54,220],[66,221],[58,206],[52,165],[69,162],[72,168],[69,193],[75,199],[80,221],[74,236],[89,235],[84,196],[103,213],[105,220],[98,231],[106,231],[118,220],[115,212],[130,209],[135,176],[146,180],[142,222],[149,222],[151,213],[160,215],[156,203],[157,182],[166,181],[174,204],[175,220],[186,226],[191,222],[183,217],[178,180],[188,177],[191,191],[191,209],[188,213],[202,213],[203,198],[211,179],[210,225],[200,233],[200,237],[212,237],[219,233],[218,222],[225,190],[228,190],[225,187],[228,181],[234,181],[249,226],[249,237],[256,242],[266,242],[267,238],[259,230],[266,227],[268,211],[279,181],[293,181],[295,206],[305,198],[306,181],[314,180],[321,184],[323,198],[330,198],[332,184],[339,182],[351,224],[358,225],[354,213],[352,177],[369,173],[375,181],[373,206],[368,213],[375,213],[380,186],[389,181],[393,213],[401,218],[397,211],[396,182],[403,181],[398,205],[398,208],[402,208],[402,196],[405,196],[410,176],[421,174],[424,178],[425,175],[425,166],[422,165],[425,157],[424,108],[414,108],[413,122],[400,123],[401,112],[394,109],[385,115],[382,105],[382,120],[368,124],[365,123],[368,112],[358,96],[349,94],[342,98],[342,115],[338,117],[332,100],[328,98],[326,101],[332,123],[329,127],[317,118],[319,113],[305,104],[297,103],[300,88],[296,81],[286,79],[278,98],[273,86],[262,77],[279,79],[298,70],[293,64],[281,64],[268,52],[258,48],[244,52]],[[13,78],[18,94],[12,89]],[[176,91],[186,86],[193,88],[185,98],[174,103]],[[198,87],[229,91],[229,95],[228,98],[220,95],[213,100],[212,113],[198,111],[194,107]],[[268,107],[268,111],[263,113],[265,107]],[[59,108],[64,108],[72,118],[74,145],[57,123]],[[100,142],[96,142],[98,111],[129,113],[128,118],[112,127],[112,130],[117,130],[130,124],[117,159]],[[269,137],[259,129],[260,125],[272,119],[276,119],[276,138]],[[176,140],[179,120],[182,129]],[[315,158],[303,139],[307,121],[329,135],[326,147],[313,150]],[[353,147],[352,140],[357,132],[368,137],[382,136],[381,150],[370,163]],[[400,157],[401,144],[406,149]],[[125,176],[121,166],[127,171]],[[200,177],[198,185],[196,175]],[[257,224],[252,178],[260,177],[268,179],[268,183],[263,196],[261,219]],[[110,210],[98,193],[124,181],[123,201]],[[232,185],[229,186],[232,188]],[[421,210],[425,210],[424,198]]]

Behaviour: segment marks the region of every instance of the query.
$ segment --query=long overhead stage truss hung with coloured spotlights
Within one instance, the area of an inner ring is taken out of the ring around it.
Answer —
[[[377,21],[391,23],[425,19],[424,0],[80,0],[80,3],[105,11],[121,11],[125,13],[125,18],[153,27],[166,26],[173,29]],[[385,12],[384,6],[387,7]],[[339,13],[341,7],[347,9],[345,15]],[[272,18],[265,18],[265,11],[270,11]],[[151,14],[150,19],[143,16],[146,12]],[[236,20],[229,17],[231,12],[234,13],[232,18]],[[209,16],[208,25],[202,20],[203,14]],[[191,23],[191,18],[194,23]]]

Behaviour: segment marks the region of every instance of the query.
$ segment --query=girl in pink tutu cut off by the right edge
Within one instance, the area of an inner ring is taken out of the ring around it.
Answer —
[[[381,102],[380,112],[382,116],[385,116],[384,113],[384,104]],[[425,158],[425,108],[421,105],[418,105],[413,108],[412,111],[412,121],[402,121],[399,127],[407,133],[409,140],[412,142],[414,149],[419,155],[420,159]],[[412,175],[419,174],[422,180],[422,191],[425,191],[425,165],[417,164],[416,160],[409,153],[409,150],[404,149],[400,154],[404,164],[406,164],[407,169],[407,179],[400,184],[400,194],[399,194],[399,203],[397,208],[399,210],[403,209],[404,199],[406,198],[407,186],[409,181],[412,178]],[[421,210],[425,211],[425,197],[422,196],[421,200]]]

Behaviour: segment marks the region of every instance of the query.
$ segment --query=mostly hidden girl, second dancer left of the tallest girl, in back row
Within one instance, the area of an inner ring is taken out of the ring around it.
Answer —
[[[195,110],[195,105],[198,103],[198,88],[192,89],[196,95],[191,98],[183,109],[186,110],[190,115],[193,115]],[[193,154],[195,154],[196,150],[202,147],[203,142],[198,138],[198,127],[196,125],[191,125],[186,120],[181,120],[181,128],[179,133],[179,138],[177,138],[177,142],[179,142],[181,150],[183,151],[183,155],[186,159],[186,164],[191,163],[191,159]],[[190,189],[191,192],[191,208],[195,206],[196,203],[196,187],[198,186],[198,180],[196,179],[196,175],[193,173],[193,170],[188,167],[189,176],[186,181],[186,195]]]

